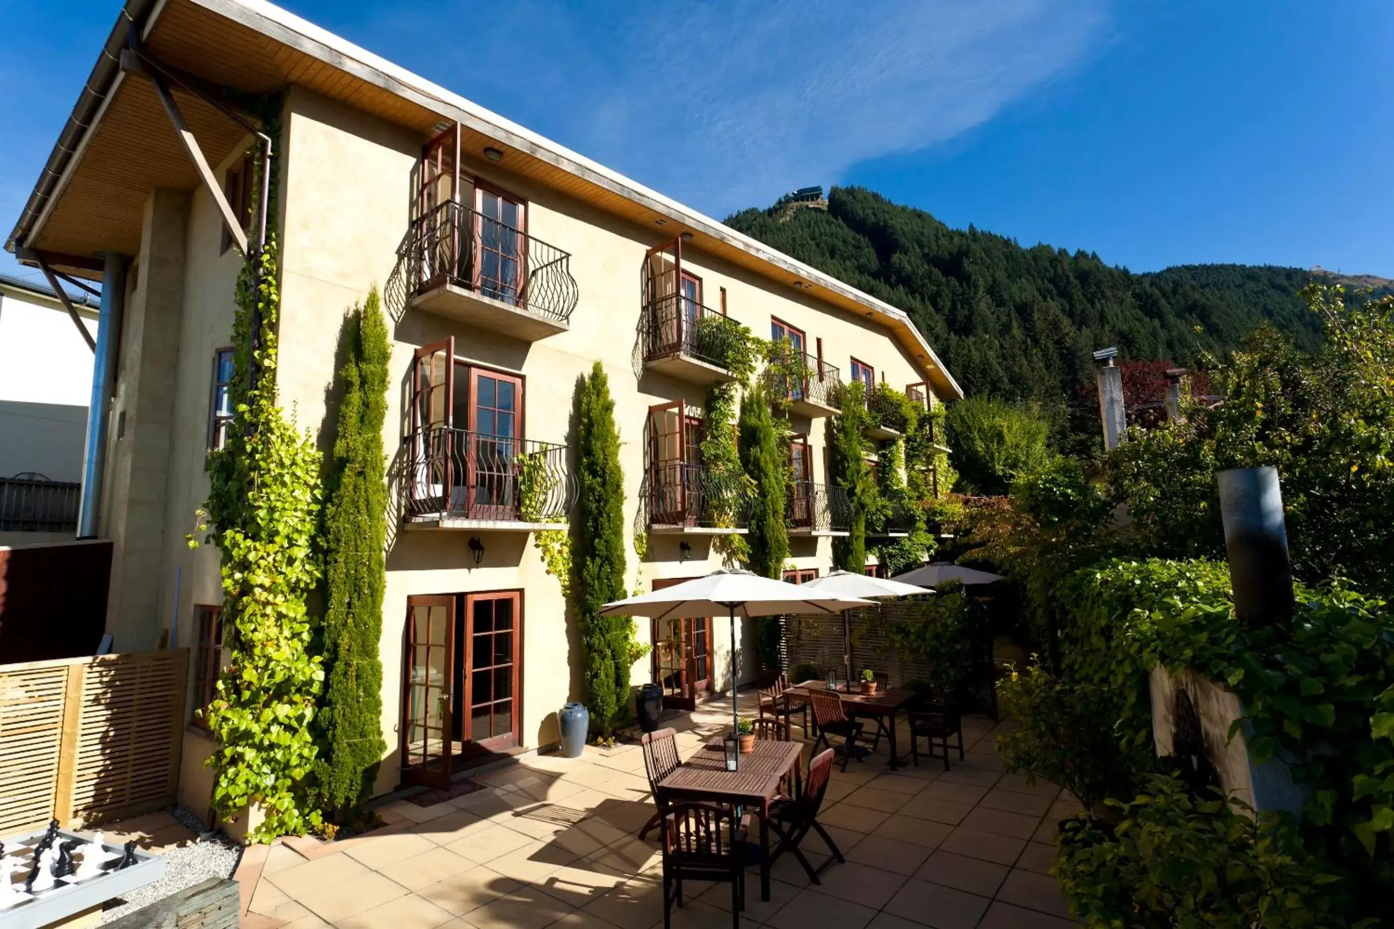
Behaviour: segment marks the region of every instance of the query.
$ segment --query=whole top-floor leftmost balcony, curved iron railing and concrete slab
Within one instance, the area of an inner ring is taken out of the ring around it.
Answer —
[[[537,341],[563,333],[580,291],[572,256],[449,201],[413,221],[388,280],[389,306],[411,306]]]

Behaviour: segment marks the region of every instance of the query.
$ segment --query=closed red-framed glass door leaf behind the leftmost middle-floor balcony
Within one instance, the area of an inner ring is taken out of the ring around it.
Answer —
[[[521,418],[520,377],[470,369],[466,479],[471,520],[517,518]]]

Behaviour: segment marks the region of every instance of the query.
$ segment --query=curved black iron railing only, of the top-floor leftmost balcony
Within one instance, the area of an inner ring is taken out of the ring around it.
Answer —
[[[570,262],[569,252],[449,201],[411,224],[393,277],[408,297],[449,283],[566,323],[580,297]]]

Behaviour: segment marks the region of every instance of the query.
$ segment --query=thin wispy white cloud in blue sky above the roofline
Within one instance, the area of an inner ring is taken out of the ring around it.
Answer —
[[[990,120],[1087,56],[1104,3],[474,1],[360,38],[721,216]]]

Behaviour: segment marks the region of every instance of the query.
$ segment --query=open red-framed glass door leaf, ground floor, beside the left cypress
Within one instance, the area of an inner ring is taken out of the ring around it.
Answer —
[[[408,596],[403,783],[450,786],[453,670],[454,598]]]

